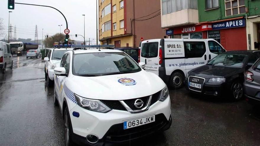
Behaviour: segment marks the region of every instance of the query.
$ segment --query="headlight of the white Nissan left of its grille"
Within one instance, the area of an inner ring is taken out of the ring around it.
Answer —
[[[103,102],[101,102],[99,100],[86,99],[86,98],[83,98],[76,94],[74,94],[74,95],[75,95],[77,104],[84,109],[99,112],[99,113],[107,113],[112,110],[111,108],[109,108]]]

